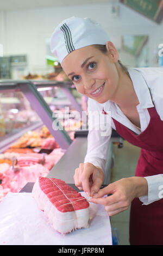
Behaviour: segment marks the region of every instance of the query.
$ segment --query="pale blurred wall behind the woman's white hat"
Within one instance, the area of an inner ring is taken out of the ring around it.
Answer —
[[[0,32],[3,31],[3,38],[0,37],[0,43],[1,41],[4,43],[6,55],[27,54],[29,71],[45,70],[45,40],[51,37],[59,22],[71,16],[90,17],[100,22],[112,36],[149,35],[149,66],[156,66],[154,50],[158,47],[156,38],[159,37],[159,26],[126,6],[119,5],[120,16],[116,18],[111,16],[111,3],[7,11],[5,15],[1,12],[0,19],[3,19],[3,26],[0,25]],[[123,61],[122,58],[121,60]],[[133,63],[135,60],[132,59]]]

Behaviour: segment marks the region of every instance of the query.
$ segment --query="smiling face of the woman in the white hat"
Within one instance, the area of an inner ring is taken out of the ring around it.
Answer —
[[[95,46],[86,46],[68,54],[62,68],[78,92],[99,103],[114,99],[118,88],[118,52],[112,42],[106,44],[107,53]]]

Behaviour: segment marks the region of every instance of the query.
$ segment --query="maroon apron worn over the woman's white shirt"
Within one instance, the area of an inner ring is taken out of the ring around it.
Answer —
[[[135,176],[163,173],[163,121],[155,107],[148,108],[151,117],[145,131],[136,135],[114,118],[117,133],[129,143],[140,147]],[[159,193],[159,190],[158,190]],[[130,245],[163,245],[163,199],[142,205],[135,198],[130,209]]]

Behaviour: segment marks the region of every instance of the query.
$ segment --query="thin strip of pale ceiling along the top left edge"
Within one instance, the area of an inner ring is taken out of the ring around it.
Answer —
[[[117,3],[118,0],[1,0],[0,11],[2,10],[26,10],[51,8],[62,5],[100,4]]]

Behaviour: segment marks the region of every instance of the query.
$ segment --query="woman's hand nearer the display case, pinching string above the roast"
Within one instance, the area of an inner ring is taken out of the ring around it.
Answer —
[[[80,163],[73,176],[76,187],[84,190],[87,196],[93,196],[101,188],[104,172],[92,163]]]

